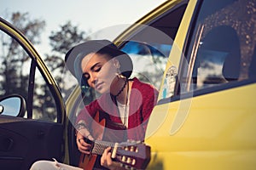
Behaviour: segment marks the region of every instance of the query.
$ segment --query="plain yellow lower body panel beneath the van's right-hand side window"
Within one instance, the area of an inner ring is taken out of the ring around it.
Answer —
[[[163,169],[255,167],[255,88],[256,84],[250,84],[157,105],[148,122],[146,139],[152,150],[152,166],[161,164]],[[188,111],[181,109],[183,102],[190,103]],[[179,120],[181,117],[183,120]]]

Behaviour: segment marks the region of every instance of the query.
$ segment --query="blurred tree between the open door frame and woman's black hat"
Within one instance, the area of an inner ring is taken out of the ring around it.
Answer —
[[[73,86],[65,86],[66,82],[62,79],[63,75],[67,75],[67,71],[64,69],[64,56],[74,45],[89,40],[90,37],[86,37],[86,32],[79,31],[79,27],[73,26],[71,21],[67,21],[67,23],[60,26],[60,28],[59,31],[51,31],[49,44],[52,49],[52,54],[47,54],[45,61],[49,66],[49,70],[53,73],[55,80],[57,80],[56,82],[59,83],[62,95],[65,98],[71,93]]]

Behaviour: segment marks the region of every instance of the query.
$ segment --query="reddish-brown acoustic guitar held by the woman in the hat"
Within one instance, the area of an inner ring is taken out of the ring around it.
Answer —
[[[145,169],[150,161],[150,146],[140,141],[124,140],[124,126],[107,121],[106,118],[100,118],[97,112],[92,123],[91,135],[95,140],[84,139],[91,144],[90,155],[81,154],[79,167],[91,170],[94,168],[102,169],[100,165],[100,156],[105,149],[111,147],[113,161],[119,161],[120,165],[126,169]],[[107,128],[106,128],[107,127]],[[108,131],[108,129],[111,129]],[[114,141],[114,142],[113,142]]]

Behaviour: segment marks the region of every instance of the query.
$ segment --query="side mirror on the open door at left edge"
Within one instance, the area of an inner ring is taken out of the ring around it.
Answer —
[[[26,101],[18,95],[13,94],[0,99],[0,115],[23,117],[26,112]]]

